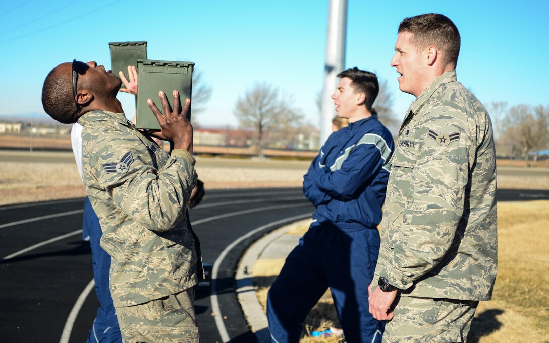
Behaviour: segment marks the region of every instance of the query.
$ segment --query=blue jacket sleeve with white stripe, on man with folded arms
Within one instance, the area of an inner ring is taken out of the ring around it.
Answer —
[[[391,149],[379,135],[366,134],[348,150],[315,178],[319,190],[339,201],[356,199],[381,168],[389,168]]]

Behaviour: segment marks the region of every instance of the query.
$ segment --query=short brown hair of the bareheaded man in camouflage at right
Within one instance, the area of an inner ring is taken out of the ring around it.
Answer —
[[[442,53],[442,63],[456,68],[461,37],[456,25],[447,16],[427,13],[404,18],[399,25],[400,32],[412,33],[412,44],[419,49],[434,45]]]

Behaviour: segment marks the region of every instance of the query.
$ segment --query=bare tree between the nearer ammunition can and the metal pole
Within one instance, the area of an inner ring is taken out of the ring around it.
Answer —
[[[257,132],[257,155],[263,157],[266,130],[281,131],[301,123],[300,110],[291,104],[292,99],[280,96],[278,89],[266,82],[256,83],[239,96],[234,106],[234,115],[240,126]]]

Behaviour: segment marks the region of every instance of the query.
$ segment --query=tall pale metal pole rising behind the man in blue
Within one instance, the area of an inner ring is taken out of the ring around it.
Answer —
[[[329,0],[328,33],[326,37],[326,61],[324,63],[324,87],[322,89],[322,115],[320,125],[321,145],[332,133],[334,102],[330,96],[338,85],[339,72],[345,67],[345,37],[347,32],[347,0]]]

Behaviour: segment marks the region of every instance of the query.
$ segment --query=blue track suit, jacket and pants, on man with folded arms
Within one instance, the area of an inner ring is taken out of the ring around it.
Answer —
[[[304,176],[316,207],[267,299],[272,341],[298,342],[307,313],[330,287],[345,339],[380,342],[384,323],[368,312],[382,206],[394,142],[377,116],[329,136]]]

